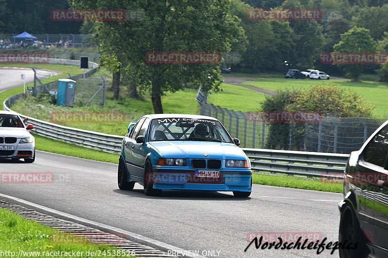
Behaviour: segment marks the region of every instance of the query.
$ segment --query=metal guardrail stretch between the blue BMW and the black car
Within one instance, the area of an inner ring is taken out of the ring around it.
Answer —
[[[349,154],[242,149],[252,170],[291,176],[341,179]]]

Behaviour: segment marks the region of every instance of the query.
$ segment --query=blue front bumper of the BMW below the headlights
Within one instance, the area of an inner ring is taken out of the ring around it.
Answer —
[[[252,170],[219,169],[219,178],[200,178],[195,169],[153,168],[152,181],[155,189],[197,191],[252,191]]]

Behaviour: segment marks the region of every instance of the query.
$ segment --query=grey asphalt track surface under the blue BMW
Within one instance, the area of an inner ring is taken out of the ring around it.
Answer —
[[[283,234],[337,241],[341,194],[254,185],[250,198],[226,192],[119,190],[117,165],[36,152],[33,164],[0,161],[0,172],[49,172],[52,182],[0,183],[0,193],[146,236],[208,257],[338,257],[324,250],[262,250],[247,236]],[[286,233],[289,232],[289,233]],[[205,253],[210,250],[214,256]],[[220,251],[218,254],[217,251]],[[204,253],[202,253],[204,252]],[[218,255],[218,256],[217,256]]]

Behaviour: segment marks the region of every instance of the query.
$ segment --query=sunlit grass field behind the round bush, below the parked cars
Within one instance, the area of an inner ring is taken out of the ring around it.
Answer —
[[[255,81],[244,82],[244,85],[257,87],[268,91],[277,91],[282,89],[307,90],[310,86],[317,84],[328,85],[335,84],[339,87],[355,91],[364,100],[376,106],[373,115],[376,118],[387,118],[387,96],[388,84],[377,81],[358,81],[351,80],[312,80],[312,79],[285,79],[285,78],[256,78]]]

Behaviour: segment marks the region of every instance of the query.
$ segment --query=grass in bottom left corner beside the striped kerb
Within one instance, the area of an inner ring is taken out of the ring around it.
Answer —
[[[108,252],[113,254],[117,248],[105,244],[92,244],[85,239],[75,238],[65,232],[43,226],[33,220],[27,220],[14,212],[0,209],[0,251],[6,253],[3,257],[13,257],[19,254],[19,250],[24,252],[40,252],[39,254],[23,253],[20,257],[43,257],[42,252],[80,252],[77,257],[90,257],[87,251]],[[56,238],[57,237],[57,238]],[[66,243],[67,240],[67,243]],[[78,242],[79,241],[79,242]],[[81,255],[81,252],[82,255]],[[126,253],[127,255],[127,253]],[[60,257],[50,255],[46,257]],[[121,257],[121,256],[111,256]]]

